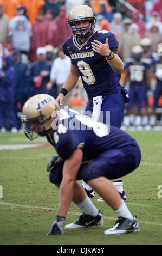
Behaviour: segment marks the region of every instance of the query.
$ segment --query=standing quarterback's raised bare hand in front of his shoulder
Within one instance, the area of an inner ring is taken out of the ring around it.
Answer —
[[[106,38],[105,44],[102,44],[102,42],[98,40],[94,40],[91,44],[93,51],[99,53],[101,56],[107,57],[111,53],[108,45],[108,38]]]

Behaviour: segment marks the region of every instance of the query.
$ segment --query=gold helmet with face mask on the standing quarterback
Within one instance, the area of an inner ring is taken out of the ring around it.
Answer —
[[[75,28],[75,21],[84,20],[88,20],[90,25],[82,28]],[[87,35],[92,34],[94,31],[95,23],[96,17],[94,11],[88,5],[78,5],[74,7],[68,16],[68,24],[72,29],[73,35],[80,38],[85,38]],[[82,33],[82,31],[86,32]]]

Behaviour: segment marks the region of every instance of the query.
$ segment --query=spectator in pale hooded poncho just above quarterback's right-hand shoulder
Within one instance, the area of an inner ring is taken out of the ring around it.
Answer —
[[[123,30],[123,24],[122,24],[122,15],[120,13],[115,13],[113,15],[113,21],[110,23],[111,30],[116,35],[119,35],[121,31]]]

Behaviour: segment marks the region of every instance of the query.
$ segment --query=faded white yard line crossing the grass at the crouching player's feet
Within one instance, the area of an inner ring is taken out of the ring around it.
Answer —
[[[44,206],[35,206],[35,205],[22,205],[22,204],[11,204],[11,203],[5,203],[5,202],[0,202],[0,205],[7,205],[7,206],[11,206],[10,209],[12,208],[29,208],[29,209],[43,209],[43,210],[54,210],[56,211],[57,208],[50,208],[50,207],[44,207]],[[132,204],[132,205],[140,205],[140,204]],[[140,206],[148,206],[151,207],[151,205],[140,205]],[[153,206],[155,207],[155,206]],[[9,207],[4,208],[0,206],[0,209],[9,209]],[[72,214],[72,215],[80,215],[80,212],[73,212],[73,211],[69,211],[68,214]],[[105,220],[112,220],[115,221],[116,217],[103,217]],[[157,225],[157,226],[161,226],[162,227],[162,223],[159,222],[147,222],[147,221],[139,221],[139,223],[142,224],[148,224],[148,225]]]

